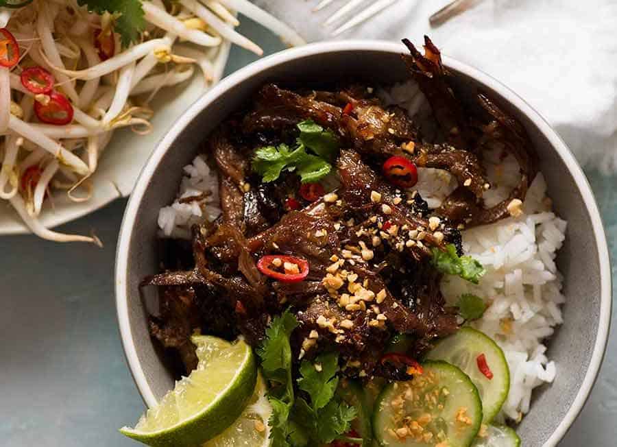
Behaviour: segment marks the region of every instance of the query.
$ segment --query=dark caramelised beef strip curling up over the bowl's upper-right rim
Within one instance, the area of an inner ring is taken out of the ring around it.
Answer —
[[[439,49],[428,37],[425,36],[424,40],[424,55],[409,40],[403,40],[411,54],[402,55],[402,58],[431,104],[435,119],[444,130],[448,142],[478,157],[486,149],[502,147],[516,158],[521,175],[520,182],[509,197],[492,208],[485,208],[481,200],[481,192],[487,186],[476,182],[475,176],[470,177],[469,184],[464,179],[461,182],[460,176],[457,176],[459,188],[441,204],[437,214],[465,226],[490,224],[516,215],[537,173],[537,154],[527,132],[521,123],[485,93],[479,93],[476,98],[485,112],[484,116],[465,111],[450,86]],[[422,166],[422,163],[418,165]],[[455,173],[450,167],[447,169]],[[466,191],[467,186],[472,186],[469,189],[474,194]]]

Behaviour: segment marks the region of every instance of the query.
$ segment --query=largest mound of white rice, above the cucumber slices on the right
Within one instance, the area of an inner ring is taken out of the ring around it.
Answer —
[[[465,254],[487,270],[479,285],[446,276],[441,290],[448,304],[462,293],[474,293],[488,305],[472,326],[494,339],[510,368],[510,392],[502,412],[520,420],[529,411],[535,387],[557,373],[546,355],[546,338],[564,322],[565,302],[555,256],[565,239],[566,221],[551,212],[542,174],[535,178],[520,217],[463,231]]]

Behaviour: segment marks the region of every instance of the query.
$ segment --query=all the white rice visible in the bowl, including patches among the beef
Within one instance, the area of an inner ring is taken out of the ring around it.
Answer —
[[[388,104],[400,104],[415,119],[428,114],[424,95],[413,82],[398,84],[391,90],[378,90]],[[431,130],[424,125],[423,132]],[[426,135],[426,132],[424,132]],[[507,197],[518,183],[518,164],[500,151],[486,154],[485,167],[491,184],[485,193],[487,206]],[[178,198],[209,192],[205,200],[182,204],[176,200],[161,208],[158,226],[165,237],[189,238],[191,225],[214,220],[221,213],[218,179],[202,156],[184,167]],[[437,208],[457,187],[457,180],[439,169],[418,169],[418,189],[431,208]],[[463,231],[465,254],[476,258],[487,270],[479,285],[455,276],[446,276],[441,289],[448,304],[455,304],[462,293],[474,293],[488,307],[473,326],[492,337],[504,350],[510,368],[510,391],[500,418],[519,421],[529,411],[532,391],[551,383],[557,367],[547,355],[546,340],[555,326],[564,322],[560,306],[562,277],[555,265],[557,250],[566,234],[566,221],[551,211],[542,174],[531,184],[523,204],[524,213],[496,224]]]

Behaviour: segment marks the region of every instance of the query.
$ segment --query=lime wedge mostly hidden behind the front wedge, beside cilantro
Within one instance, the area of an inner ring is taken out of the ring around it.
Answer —
[[[202,447],[268,447],[271,414],[272,407],[266,398],[265,382],[260,374],[253,396],[240,417]]]

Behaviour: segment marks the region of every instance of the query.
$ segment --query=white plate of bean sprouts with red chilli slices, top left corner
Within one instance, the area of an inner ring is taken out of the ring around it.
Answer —
[[[238,17],[303,43],[247,0],[111,3],[0,1],[0,234],[100,245],[50,228],[130,194],[230,45],[263,53]]]

